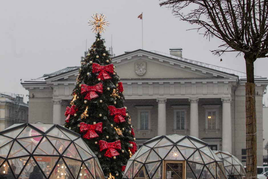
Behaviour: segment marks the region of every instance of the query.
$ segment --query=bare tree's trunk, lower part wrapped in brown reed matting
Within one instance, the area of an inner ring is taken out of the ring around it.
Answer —
[[[245,55],[247,83],[245,83],[246,99],[246,178],[257,178],[257,127],[254,83],[253,55]]]

